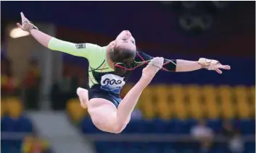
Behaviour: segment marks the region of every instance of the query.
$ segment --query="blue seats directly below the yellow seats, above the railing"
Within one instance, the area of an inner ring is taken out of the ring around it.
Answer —
[[[197,125],[196,119],[171,119],[168,121],[160,118],[154,120],[132,120],[128,123],[125,130],[122,133],[127,134],[190,134],[191,127]],[[220,119],[209,119],[206,121],[206,125],[212,128],[215,134],[221,132],[223,120]],[[234,128],[239,129],[241,134],[255,134],[255,119],[234,119],[231,120]],[[80,122],[80,128],[85,134],[97,134],[102,133],[99,131],[93,123],[91,118],[84,118]]]

